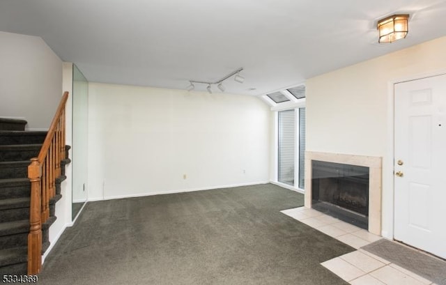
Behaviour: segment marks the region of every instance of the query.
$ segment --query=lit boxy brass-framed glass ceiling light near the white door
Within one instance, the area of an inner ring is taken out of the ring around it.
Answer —
[[[378,43],[392,43],[395,40],[406,38],[409,31],[409,15],[392,15],[378,21]]]

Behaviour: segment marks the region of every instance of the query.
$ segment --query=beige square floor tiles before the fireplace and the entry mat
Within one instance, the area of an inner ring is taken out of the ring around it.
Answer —
[[[355,252],[321,263],[350,284],[436,285],[390,261],[360,249],[379,240],[380,236],[310,208],[293,208],[282,210],[282,213],[357,249]]]

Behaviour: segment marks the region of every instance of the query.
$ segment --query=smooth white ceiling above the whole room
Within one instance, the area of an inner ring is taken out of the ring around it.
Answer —
[[[378,44],[395,13],[407,38]],[[42,37],[92,82],[185,89],[245,68],[226,92],[263,95],[445,36],[446,0],[1,0],[0,31]]]

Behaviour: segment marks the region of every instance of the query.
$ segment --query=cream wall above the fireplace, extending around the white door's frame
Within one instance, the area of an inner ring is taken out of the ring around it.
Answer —
[[[383,236],[393,237],[392,83],[445,72],[446,37],[308,79],[307,151],[383,157]]]

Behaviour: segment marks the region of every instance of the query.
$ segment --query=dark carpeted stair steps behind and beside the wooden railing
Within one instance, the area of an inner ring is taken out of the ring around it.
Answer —
[[[31,183],[28,166],[37,157],[47,132],[24,131],[26,121],[0,118],[0,275],[26,275],[30,230]],[[68,157],[66,147],[66,157]],[[49,226],[61,199],[65,164],[56,178],[56,195],[49,201],[49,219],[42,224],[42,254],[49,247]]]

